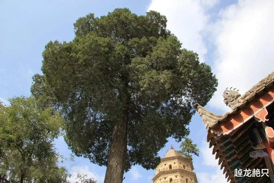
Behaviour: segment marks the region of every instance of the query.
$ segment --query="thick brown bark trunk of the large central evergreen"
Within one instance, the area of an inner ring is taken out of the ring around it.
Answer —
[[[127,150],[127,113],[113,127],[104,183],[122,183]]]

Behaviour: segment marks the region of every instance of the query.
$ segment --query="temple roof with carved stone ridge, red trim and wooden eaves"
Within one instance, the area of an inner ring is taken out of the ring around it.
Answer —
[[[274,71],[259,81],[245,94],[241,95],[235,89],[225,89],[223,98],[226,105],[232,111],[223,115],[216,115],[199,104],[194,108],[202,117],[202,122],[208,131],[207,142],[209,148],[213,146],[212,154],[219,159],[218,164],[223,168],[223,173],[231,183],[240,182],[270,182],[269,177],[235,177],[234,170],[237,168],[265,169],[266,163],[263,158],[251,158],[254,151],[248,131],[255,129],[255,116],[262,108],[274,109]]]

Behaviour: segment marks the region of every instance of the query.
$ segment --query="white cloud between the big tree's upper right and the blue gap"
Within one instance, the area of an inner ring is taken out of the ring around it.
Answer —
[[[152,0],[148,10],[154,10],[165,15],[168,19],[167,28],[182,42],[182,47],[199,54],[204,62],[207,53],[203,41],[204,30],[209,21],[205,7],[215,5],[217,0]]]

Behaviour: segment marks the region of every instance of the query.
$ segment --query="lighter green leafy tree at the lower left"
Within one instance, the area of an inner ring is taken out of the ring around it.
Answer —
[[[51,108],[41,110],[34,98],[16,97],[10,106],[0,103],[0,176],[11,182],[66,182],[65,167],[53,140],[64,121]]]

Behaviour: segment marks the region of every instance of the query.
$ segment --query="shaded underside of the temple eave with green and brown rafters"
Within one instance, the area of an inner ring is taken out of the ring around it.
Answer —
[[[245,124],[233,134],[221,136],[218,139],[211,132],[207,134],[207,142],[209,148],[213,147],[212,154],[215,154],[215,159],[218,159],[220,169],[223,169],[223,174],[227,181],[231,183],[238,182],[270,182],[268,177],[252,178],[246,180],[246,177],[234,177],[234,170],[241,169],[265,169],[266,164],[263,158],[251,158],[249,153],[254,151],[249,141],[249,137],[241,135],[249,128],[254,128],[254,122]]]

